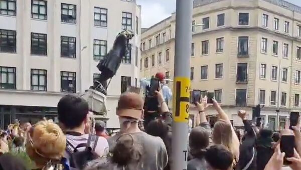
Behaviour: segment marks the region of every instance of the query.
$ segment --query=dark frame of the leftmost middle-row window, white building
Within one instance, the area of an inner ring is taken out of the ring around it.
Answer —
[[[6,32],[6,34],[3,34],[4,32]],[[0,40],[3,40],[3,38],[1,38],[1,37],[6,37],[5,38],[6,46],[2,45],[2,44],[4,44],[3,41],[0,41],[0,53],[16,53],[17,52],[17,31],[0,29]],[[13,40],[13,43],[10,43],[10,40]],[[13,46],[9,46],[10,44],[12,44]],[[3,50],[3,49],[5,49],[5,50]]]

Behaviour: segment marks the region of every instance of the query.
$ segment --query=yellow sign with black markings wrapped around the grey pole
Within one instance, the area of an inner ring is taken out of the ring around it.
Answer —
[[[190,79],[176,77],[173,94],[173,119],[175,122],[188,122],[190,99]]]

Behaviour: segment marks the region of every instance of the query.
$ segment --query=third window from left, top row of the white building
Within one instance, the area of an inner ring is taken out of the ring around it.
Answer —
[[[61,22],[76,24],[76,5],[61,4]]]

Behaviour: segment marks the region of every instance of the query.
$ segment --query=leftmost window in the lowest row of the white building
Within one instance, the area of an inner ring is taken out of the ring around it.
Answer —
[[[16,67],[0,67],[0,89],[16,89]]]

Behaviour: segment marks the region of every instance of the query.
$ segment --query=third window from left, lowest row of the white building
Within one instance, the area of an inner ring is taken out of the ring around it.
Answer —
[[[61,92],[76,92],[76,73],[61,71]]]

